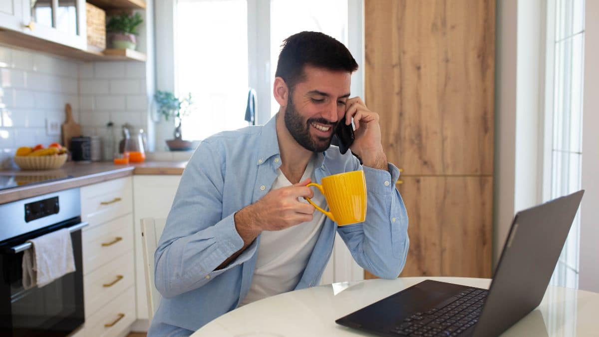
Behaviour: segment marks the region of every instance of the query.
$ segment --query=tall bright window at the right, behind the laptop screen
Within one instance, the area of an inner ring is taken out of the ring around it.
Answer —
[[[548,2],[544,200],[580,189],[584,6],[584,0]],[[578,287],[579,247],[580,212],[553,272],[552,285]]]

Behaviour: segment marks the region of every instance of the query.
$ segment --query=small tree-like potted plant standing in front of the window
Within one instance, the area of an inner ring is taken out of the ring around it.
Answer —
[[[164,116],[168,121],[169,118],[174,118],[176,127],[174,131],[174,139],[167,140],[168,148],[171,151],[187,151],[192,149],[192,142],[181,138],[181,118],[189,115],[192,112],[193,101],[191,94],[187,94],[184,98],[176,97],[172,92],[156,91],[154,94],[158,113]]]

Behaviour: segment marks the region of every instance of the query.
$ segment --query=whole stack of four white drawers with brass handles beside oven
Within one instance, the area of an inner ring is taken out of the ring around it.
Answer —
[[[85,336],[122,336],[135,321],[132,177],[80,189]]]

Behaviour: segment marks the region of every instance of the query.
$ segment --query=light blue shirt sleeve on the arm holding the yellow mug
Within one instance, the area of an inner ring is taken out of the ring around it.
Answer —
[[[226,268],[215,270],[244,244],[234,213],[222,217],[222,167],[214,145],[202,142],[181,176],[155,252],[155,284],[164,297],[202,287],[249,260],[256,249],[254,242]]]

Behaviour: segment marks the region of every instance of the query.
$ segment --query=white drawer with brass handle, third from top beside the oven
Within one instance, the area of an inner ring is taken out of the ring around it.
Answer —
[[[85,275],[85,317],[93,315],[134,283],[133,251]]]

